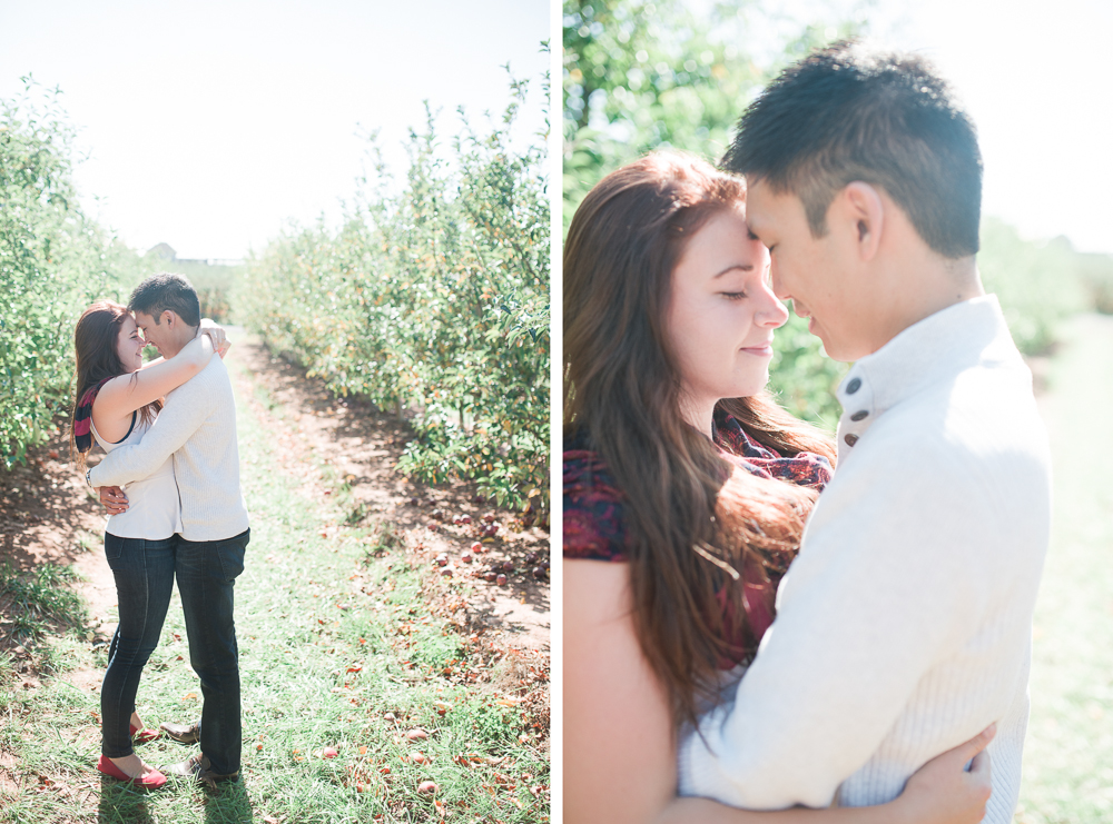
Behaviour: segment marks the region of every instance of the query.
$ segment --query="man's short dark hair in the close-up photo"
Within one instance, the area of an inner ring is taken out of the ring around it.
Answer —
[[[746,109],[723,165],[800,198],[814,237],[847,183],[884,189],[947,258],[978,250],[977,130],[934,67],[854,41],[789,67]]]

